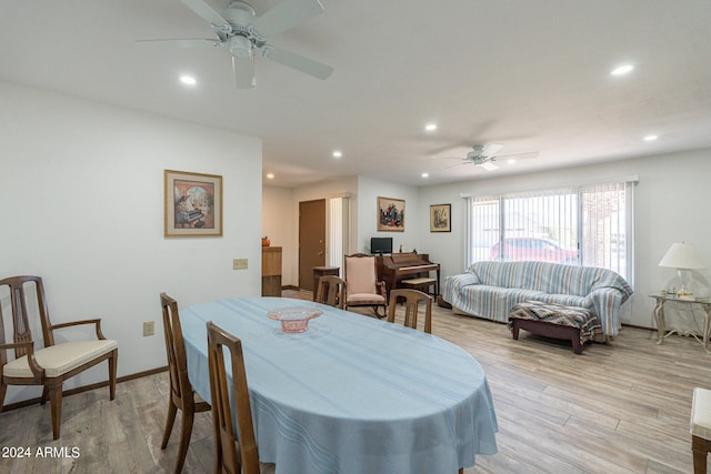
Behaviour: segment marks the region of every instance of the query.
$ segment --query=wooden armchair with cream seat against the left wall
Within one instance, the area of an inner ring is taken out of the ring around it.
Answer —
[[[13,323],[11,343],[6,341],[2,322],[2,300],[8,291]],[[43,347],[34,347],[36,341],[28,317],[30,314],[39,315]],[[54,342],[54,331],[83,324],[94,325],[96,340]],[[14,350],[14,360],[8,359],[8,351],[11,349]],[[64,381],[108,361],[109,397],[113,400],[118,359],[118,343],[103,336],[100,319],[51,323],[44,285],[40,276],[24,275],[0,280],[0,411],[8,385],[43,385],[40,403],[44,404],[49,396],[52,435],[57,440],[60,435]]]

